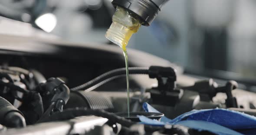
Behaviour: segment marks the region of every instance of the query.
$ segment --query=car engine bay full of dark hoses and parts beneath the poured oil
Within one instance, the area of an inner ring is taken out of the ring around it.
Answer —
[[[116,46],[8,38],[15,42],[2,46],[0,53],[1,134],[213,134],[182,125],[143,125],[118,115],[127,112],[127,93],[124,60]],[[22,43],[33,45],[24,51]],[[40,46],[45,50],[38,51]],[[162,58],[128,51],[131,112],[144,112],[149,103],[170,119],[215,108],[256,116],[256,94],[238,89],[236,81],[184,74]]]

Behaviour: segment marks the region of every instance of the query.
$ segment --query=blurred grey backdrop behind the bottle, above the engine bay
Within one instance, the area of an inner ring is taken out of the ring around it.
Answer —
[[[0,15],[67,41],[111,45],[104,36],[115,12],[111,2],[1,0]],[[255,14],[255,0],[170,0],[151,26],[133,35],[128,48],[165,58],[186,73],[254,83]],[[9,26],[7,32],[22,29]]]

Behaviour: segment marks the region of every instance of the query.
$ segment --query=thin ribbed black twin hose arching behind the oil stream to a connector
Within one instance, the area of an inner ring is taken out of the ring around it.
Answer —
[[[89,82],[79,85],[77,87],[71,88],[70,90],[87,90],[90,87],[95,86],[96,84],[101,83],[102,81],[108,80],[109,78],[115,79],[117,76],[126,74],[125,68],[118,68],[112,71],[108,71]],[[129,74],[148,74],[148,67],[129,67]],[[111,79],[111,80],[113,80]]]

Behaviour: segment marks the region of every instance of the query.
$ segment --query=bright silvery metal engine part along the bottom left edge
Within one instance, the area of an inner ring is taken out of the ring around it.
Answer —
[[[108,119],[97,116],[82,116],[63,122],[46,122],[29,125],[21,129],[7,129],[0,131],[4,135],[69,135],[85,134],[95,126],[104,125]],[[111,133],[111,130],[108,130]]]

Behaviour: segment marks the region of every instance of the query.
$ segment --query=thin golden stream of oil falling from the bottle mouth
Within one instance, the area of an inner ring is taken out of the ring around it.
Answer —
[[[125,46],[123,45],[125,56],[125,69],[126,69],[126,85],[127,85],[127,114],[130,117],[130,90],[129,90],[129,70],[128,70],[128,55]]]

